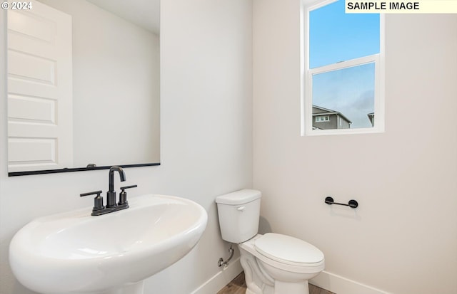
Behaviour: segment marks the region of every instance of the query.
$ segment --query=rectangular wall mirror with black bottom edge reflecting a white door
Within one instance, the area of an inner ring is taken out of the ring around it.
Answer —
[[[159,0],[31,5],[8,11],[9,176],[159,165]]]

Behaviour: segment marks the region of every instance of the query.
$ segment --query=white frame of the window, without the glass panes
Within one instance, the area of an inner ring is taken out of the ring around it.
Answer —
[[[338,0],[301,1],[301,135],[344,135],[344,134],[368,134],[384,132],[384,47],[385,47],[385,17],[379,16],[379,53],[371,56],[363,56],[348,61],[341,61],[317,68],[309,68],[309,13],[314,9],[319,9]],[[344,1],[344,0],[339,0]],[[312,85],[313,74],[326,73],[333,70],[351,68],[367,63],[375,65],[375,90],[374,90],[374,125],[373,127],[333,129],[333,130],[313,130],[313,98]]]

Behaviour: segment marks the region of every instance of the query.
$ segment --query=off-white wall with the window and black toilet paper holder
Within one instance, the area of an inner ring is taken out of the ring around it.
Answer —
[[[264,222],[321,248],[326,271],[350,283],[457,293],[457,15],[386,16],[386,132],[301,137],[299,6],[253,1]],[[359,208],[328,206],[329,195]]]

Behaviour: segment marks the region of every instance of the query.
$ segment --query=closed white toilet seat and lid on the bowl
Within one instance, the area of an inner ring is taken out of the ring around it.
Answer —
[[[290,266],[320,266],[324,258],[322,251],[310,243],[279,233],[256,238],[254,248],[262,256]]]

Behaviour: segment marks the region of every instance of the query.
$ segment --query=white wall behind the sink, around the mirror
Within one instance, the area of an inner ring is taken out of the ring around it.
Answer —
[[[245,0],[161,3],[161,166],[126,169],[126,184],[139,185],[131,196],[197,201],[209,222],[188,256],[147,280],[148,294],[191,293],[221,271],[217,261],[227,255],[214,199],[252,185],[251,15]],[[90,213],[92,199],[79,194],[106,191],[108,172],[7,177],[5,25],[1,11],[0,293],[29,294],[9,269],[12,236],[37,216],[84,206]]]

